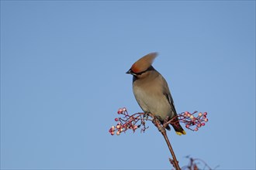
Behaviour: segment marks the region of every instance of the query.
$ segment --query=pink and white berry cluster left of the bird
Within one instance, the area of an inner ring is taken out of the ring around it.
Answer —
[[[135,130],[137,128],[140,128],[140,126],[143,126],[141,131],[145,131],[147,129],[145,127],[145,120],[149,120],[149,119],[145,118],[144,113],[129,115],[126,108],[123,107],[117,111],[117,114],[122,114],[123,118],[122,117],[115,118],[115,121],[118,121],[118,123],[116,124],[116,126],[112,126],[109,129],[110,134],[114,135],[116,131],[116,134],[119,135],[122,132],[126,132],[128,129],[131,129],[133,130],[133,132],[135,132]],[[139,122],[140,124],[136,125],[138,121],[140,121]]]

